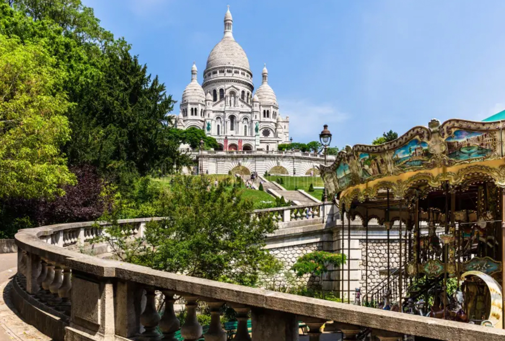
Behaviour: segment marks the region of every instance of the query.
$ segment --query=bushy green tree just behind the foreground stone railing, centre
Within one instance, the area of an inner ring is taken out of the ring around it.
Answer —
[[[271,218],[253,215],[240,189],[214,187],[209,179],[175,177],[157,201],[164,220],[146,224],[144,238],[125,241],[116,255],[159,270],[254,285],[273,259],[264,246],[276,227]],[[120,230],[113,224],[106,238],[122,238]]]

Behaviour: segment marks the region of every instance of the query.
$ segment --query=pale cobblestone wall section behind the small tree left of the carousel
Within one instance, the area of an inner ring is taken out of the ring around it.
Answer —
[[[319,288],[321,286],[319,277],[306,275],[298,278],[290,269],[296,260],[302,255],[322,249],[323,246],[320,242],[270,249],[270,253],[282,262],[284,269],[273,277],[263,276],[260,278],[262,287],[266,289],[287,289],[292,287],[308,287],[312,289]]]

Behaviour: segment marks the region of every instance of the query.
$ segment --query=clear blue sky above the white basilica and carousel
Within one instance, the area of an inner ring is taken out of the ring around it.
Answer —
[[[263,63],[297,142],[371,143],[432,118],[505,109],[505,1],[83,0],[180,100],[192,61],[201,84],[226,5],[255,86]],[[176,111],[179,106],[176,104]]]

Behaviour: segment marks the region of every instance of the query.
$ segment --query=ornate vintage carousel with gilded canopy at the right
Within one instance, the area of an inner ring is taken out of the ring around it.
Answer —
[[[320,167],[343,217],[342,237],[356,228],[351,219],[366,230],[365,266],[370,221],[387,231],[383,280],[369,287],[364,279],[366,287],[356,289],[359,304],[505,327],[503,127],[433,119],[383,145],[346,146],[332,165]],[[395,268],[393,242],[399,243]],[[339,269],[342,279],[346,266]],[[349,284],[344,292],[341,282],[340,297],[350,297]]]

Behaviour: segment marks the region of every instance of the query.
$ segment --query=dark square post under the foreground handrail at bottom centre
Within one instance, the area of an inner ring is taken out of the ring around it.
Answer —
[[[252,341],[297,341],[297,316],[282,311],[252,308]]]

